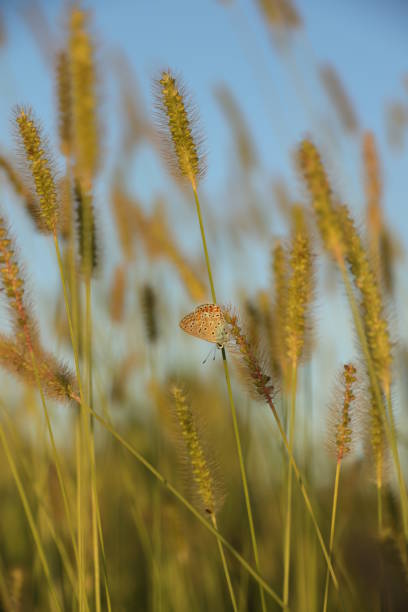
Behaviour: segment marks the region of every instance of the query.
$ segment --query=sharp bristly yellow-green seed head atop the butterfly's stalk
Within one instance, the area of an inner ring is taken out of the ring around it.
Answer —
[[[165,156],[173,174],[179,179],[187,179],[195,189],[205,172],[196,112],[184,88],[169,70],[162,72],[155,88],[158,127]]]

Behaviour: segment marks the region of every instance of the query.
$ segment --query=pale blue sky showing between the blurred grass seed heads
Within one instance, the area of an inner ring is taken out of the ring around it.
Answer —
[[[225,187],[230,167],[231,133],[213,94],[214,86],[223,82],[235,94],[262,160],[263,178],[259,188],[270,198],[265,206],[269,209],[266,222],[270,224],[271,236],[281,231],[281,225],[276,220],[278,215],[268,181],[283,176],[291,186],[293,197],[301,196],[300,181],[293,171],[293,151],[305,135],[311,135],[324,147],[322,125],[325,123],[336,136],[331,150],[326,151],[333,185],[359,217],[364,205],[360,136],[347,137],[342,133],[322,90],[317,69],[329,63],[344,82],[361,128],[373,130],[378,139],[383,165],[384,207],[392,228],[406,245],[408,156],[406,149],[399,155],[390,150],[385,108],[393,100],[406,103],[408,107],[408,91],[403,85],[403,77],[408,74],[408,4],[380,0],[308,0],[297,4],[305,25],[292,37],[288,51],[283,52],[274,46],[252,0],[225,4],[215,0],[94,0],[83,3],[92,14],[101,77],[106,156],[99,187],[101,201],[106,203],[104,190],[118,154],[120,115],[111,58],[113,52],[120,50],[135,71],[147,113],[152,112],[152,78],[160,69],[171,67],[183,75],[199,108],[206,135],[208,174],[201,190],[215,215],[222,212],[223,207],[231,210],[234,204],[228,201],[230,196]],[[36,3],[4,0],[0,6],[7,38],[7,44],[0,49],[3,82],[0,146],[6,152],[13,148],[11,109],[16,103],[32,106],[51,142],[55,143],[53,75],[41,47],[53,42],[57,46],[63,43],[66,4],[59,0],[38,0],[48,22],[47,28],[40,33],[40,45],[38,33],[36,39],[24,17],[28,6],[35,10]],[[174,200],[180,198],[169,187],[160,163],[149,151],[141,151],[133,160],[130,188],[147,202],[147,206],[160,193],[171,193]],[[195,223],[193,213],[191,217],[184,217],[184,212],[181,216],[177,212],[177,206],[174,210],[174,225],[183,240],[185,227],[190,221]],[[14,213],[9,212],[13,216]],[[24,225],[24,221],[17,216],[15,224]],[[21,231],[24,235],[24,228]],[[191,235],[194,240],[198,239],[196,229]],[[42,240],[30,238],[30,260],[37,255],[41,257]],[[27,245],[22,244],[23,252],[26,248]],[[224,261],[228,259],[225,255],[220,251],[216,256]],[[252,288],[265,285],[269,275],[268,253],[252,250],[251,257],[247,266],[231,258],[226,262],[223,276],[218,279],[222,281],[223,298],[229,296],[229,283],[233,284],[243,275]],[[29,261],[28,267],[30,265]],[[252,273],[255,268],[257,272]],[[47,276],[41,274],[40,282],[44,282],[44,278]],[[406,293],[403,299],[406,301]],[[339,311],[336,316],[346,317]],[[324,322],[322,325],[324,335]],[[329,319],[327,325],[330,325]]]

